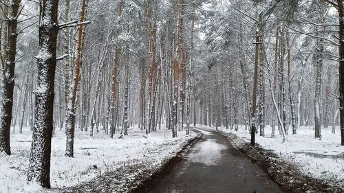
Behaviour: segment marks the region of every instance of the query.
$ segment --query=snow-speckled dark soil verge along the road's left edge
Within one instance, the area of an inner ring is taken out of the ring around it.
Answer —
[[[168,159],[160,165],[157,166],[153,161],[131,163],[127,166],[122,166],[117,170],[106,172],[100,177],[89,181],[87,183],[80,183],[71,188],[66,188],[64,190],[57,190],[56,192],[138,192],[140,188],[145,186],[151,179],[154,179],[160,172],[164,171],[166,166],[171,165],[173,161],[177,160],[178,157],[186,152],[192,144],[200,138],[198,135],[195,138],[190,139],[177,153],[175,157]],[[158,148],[158,147],[157,147]]]

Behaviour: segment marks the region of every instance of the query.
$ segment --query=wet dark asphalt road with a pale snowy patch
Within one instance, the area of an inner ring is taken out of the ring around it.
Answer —
[[[181,161],[142,192],[282,192],[259,166],[223,135],[200,130],[202,138]]]

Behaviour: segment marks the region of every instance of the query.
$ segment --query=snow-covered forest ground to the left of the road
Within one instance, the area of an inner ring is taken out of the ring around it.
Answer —
[[[147,138],[145,138],[145,137]],[[52,139],[50,183],[52,188],[63,188],[90,181],[104,172],[116,170],[145,160],[153,160],[159,166],[175,156],[182,146],[197,136],[191,132],[186,137],[180,133],[172,139],[171,131],[159,130],[145,135],[139,128],[131,128],[129,136],[109,139],[103,130],[89,137],[88,132],[76,132],[74,158],[65,157],[65,134],[56,130]],[[36,192],[36,187],[27,185],[26,170],[29,163],[30,130],[11,135],[12,155],[0,154],[0,192]]]

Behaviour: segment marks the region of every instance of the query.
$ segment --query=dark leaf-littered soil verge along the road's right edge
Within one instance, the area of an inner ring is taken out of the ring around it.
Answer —
[[[271,150],[264,150],[256,144],[256,147],[240,139],[235,134],[225,134],[233,146],[237,146],[241,152],[263,168],[270,177],[285,191],[292,193],[343,193],[343,187],[330,186],[326,181],[314,179],[302,174],[296,166],[280,159]]]

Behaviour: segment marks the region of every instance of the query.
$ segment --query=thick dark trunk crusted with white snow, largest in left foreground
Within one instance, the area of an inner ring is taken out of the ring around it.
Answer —
[[[50,188],[58,0],[39,2],[38,76],[28,181]]]

